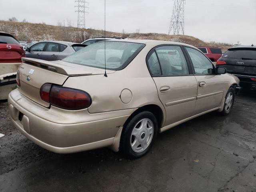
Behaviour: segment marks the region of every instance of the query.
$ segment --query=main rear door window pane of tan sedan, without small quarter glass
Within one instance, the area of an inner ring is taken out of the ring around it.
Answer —
[[[180,46],[160,46],[156,49],[162,75],[188,75],[188,65]]]

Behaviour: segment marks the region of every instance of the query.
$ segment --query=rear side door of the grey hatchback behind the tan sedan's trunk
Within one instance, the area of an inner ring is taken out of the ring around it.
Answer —
[[[46,45],[46,48],[42,52],[41,59],[47,60],[47,61],[55,61],[58,58],[58,55],[60,54],[58,43],[54,42],[48,42]]]

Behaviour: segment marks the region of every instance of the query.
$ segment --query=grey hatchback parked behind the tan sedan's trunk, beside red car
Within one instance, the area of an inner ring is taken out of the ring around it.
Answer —
[[[42,41],[26,48],[26,57],[47,61],[62,60],[85,46],[65,41]]]

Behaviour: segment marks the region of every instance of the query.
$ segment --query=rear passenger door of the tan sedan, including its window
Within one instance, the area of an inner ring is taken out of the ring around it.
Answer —
[[[182,49],[163,45],[147,56],[148,68],[166,109],[164,126],[190,117],[196,104],[196,78]]]

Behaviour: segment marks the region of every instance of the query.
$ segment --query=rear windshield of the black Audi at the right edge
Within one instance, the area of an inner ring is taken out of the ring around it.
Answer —
[[[223,58],[256,59],[256,50],[228,50]]]

